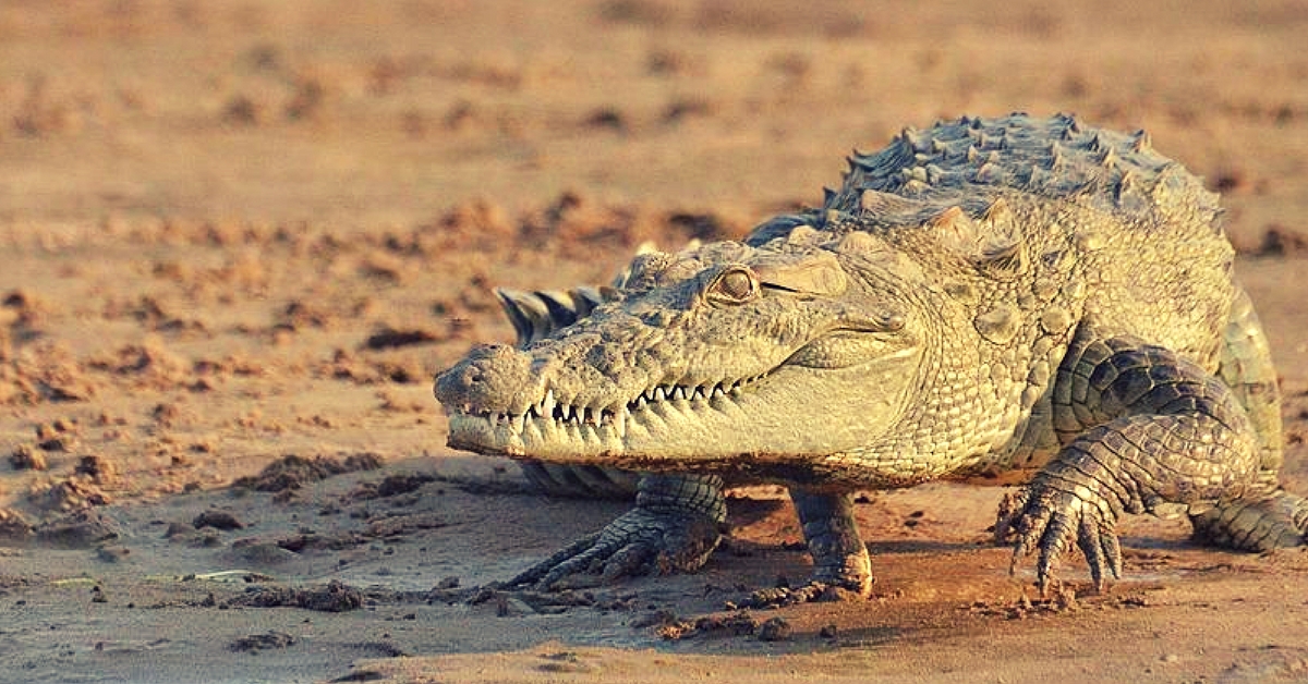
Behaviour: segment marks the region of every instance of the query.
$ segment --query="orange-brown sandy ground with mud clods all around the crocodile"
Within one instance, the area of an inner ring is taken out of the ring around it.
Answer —
[[[625,506],[451,453],[430,399],[511,337],[494,285],[738,237],[906,124],[1074,111],[1223,194],[1308,492],[1305,33],[1295,1],[7,1],[0,680],[1308,679],[1308,555],[1133,519],[1125,581],[1073,561],[1041,602],[994,489],[869,494],[866,603],[727,609],[807,574],[768,488],[698,574],[481,592]]]

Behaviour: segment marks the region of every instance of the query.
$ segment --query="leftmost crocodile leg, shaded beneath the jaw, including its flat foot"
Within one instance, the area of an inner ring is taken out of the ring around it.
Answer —
[[[634,509],[531,566],[508,586],[548,590],[582,574],[612,582],[651,572],[697,570],[717,548],[725,523],[721,477],[645,475]]]

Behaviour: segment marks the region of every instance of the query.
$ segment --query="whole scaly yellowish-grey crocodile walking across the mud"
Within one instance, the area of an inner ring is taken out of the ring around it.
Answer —
[[[451,447],[640,473],[630,511],[510,585],[693,570],[736,483],[789,488],[807,596],[870,592],[853,492],[931,480],[1019,485],[995,536],[1041,592],[1073,549],[1120,578],[1125,514],[1305,544],[1219,197],[1147,133],[964,116],[848,163],[820,207],[638,255],[437,377]]]

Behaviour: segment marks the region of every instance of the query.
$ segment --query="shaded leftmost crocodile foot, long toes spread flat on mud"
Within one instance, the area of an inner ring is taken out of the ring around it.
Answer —
[[[719,523],[693,510],[634,507],[506,582],[536,590],[610,583],[620,577],[693,572],[721,539]],[[587,577],[589,575],[589,577]]]

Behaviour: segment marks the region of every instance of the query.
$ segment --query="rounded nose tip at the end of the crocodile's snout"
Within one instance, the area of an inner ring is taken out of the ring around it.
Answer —
[[[475,413],[511,412],[534,383],[531,357],[504,344],[481,345],[436,377],[436,400]]]

